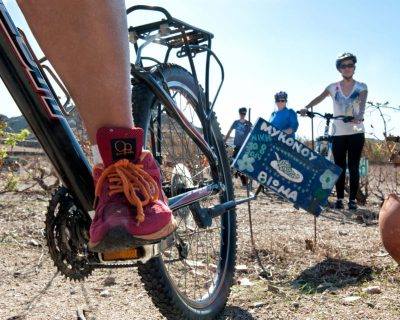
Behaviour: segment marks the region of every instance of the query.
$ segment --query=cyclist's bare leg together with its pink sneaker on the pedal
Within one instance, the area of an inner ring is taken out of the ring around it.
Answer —
[[[19,0],[19,4],[70,91],[91,142],[98,146],[97,160],[102,163],[96,161],[94,148],[96,213],[89,248],[115,251],[136,245],[138,239],[166,237],[176,222],[161,201],[158,166],[150,153],[142,153],[143,131],[133,128],[124,1]]]

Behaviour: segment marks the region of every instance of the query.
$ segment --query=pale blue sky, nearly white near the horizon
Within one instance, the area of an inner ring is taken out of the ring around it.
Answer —
[[[38,45],[15,0],[4,1],[17,26],[39,57]],[[226,132],[237,118],[239,107],[251,108],[252,120],[268,120],[275,109],[277,91],[289,95],[288,106],[301,109],[325,87],[340,80],[335,60],[343,52],[358,58],[355,79],[368,85],[368,100],[400,105],[400,1],[398,0],[127,0],[127,7],[145,3],[165,7],[172,16],[214,34],[213,50],[225,69],[225,82],[216,104],[216,113]],[[153,16],[159,18],[159,16]],[[129,18],[132,25],[150,17]],[[160,55],[158,47],[147,54]],[[202,57],[198,67],[204,68]],[[182,62],[174,59],[173,62]],[[212,68],[212,83],[219,79]],[[325,99],[315,111],[332,112],[332,100]],[[0,80],[0,113],[20,114]],[[400,112],[387,111],[388,128],[400,134]],[[396,123],[397,121],[397,123]],[[371,128],[373,124],[374,128]],[[368,135],[382,136],[378,113],[366,113]],[[315,130],[322,134],[323,124]],[[310,121],[300,119],[299,136],[310,137]]]

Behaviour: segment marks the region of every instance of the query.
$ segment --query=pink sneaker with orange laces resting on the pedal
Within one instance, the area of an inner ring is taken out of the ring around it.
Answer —
[[[142,151],[140,128],[97,131],[104,166],[93,168],[96,214],[90,226],[92,251],[115,251],[157,242],[176,229],[161,188],[160,169]]]

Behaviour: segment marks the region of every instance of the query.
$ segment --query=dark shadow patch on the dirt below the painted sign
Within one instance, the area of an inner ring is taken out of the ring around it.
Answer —
[[[372,280],[372,268],[355,262],[327,258],[304,270],[292,286],[304,293],[335,291]]]

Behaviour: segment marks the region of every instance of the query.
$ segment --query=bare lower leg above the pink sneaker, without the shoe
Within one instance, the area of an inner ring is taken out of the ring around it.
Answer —
[[[90,140],[101,127],[132,128],[123,0],[18,0],[43,52],[74,99]]]

